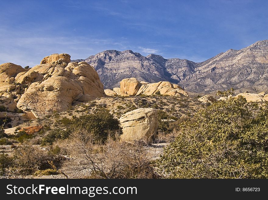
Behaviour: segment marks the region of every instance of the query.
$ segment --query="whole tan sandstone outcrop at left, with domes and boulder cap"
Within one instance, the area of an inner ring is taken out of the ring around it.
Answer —
[[[65,111],[73,101],[105,96],[96,70],[86,62],[70,62],[70,57],[52,54],[30,69],[12,63],[0,65],[2,105],[23,110],[25,118],[36,118]]]

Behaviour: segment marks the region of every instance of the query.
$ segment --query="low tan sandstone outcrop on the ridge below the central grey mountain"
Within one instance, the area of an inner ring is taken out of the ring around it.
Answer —
[[[116,95],[121,96],[138,96],[138,95],[168,95],[168,96],[184,96],[188,97],[188,93],[180,86],[172,84],[167,81],[160,81],[157,83],[147,83],[138,81],[136,78],[123,79],[120,82],[120,91],[118,88],[111,90]],[[114,96],[110,90],[107,90],[108,96]],[[119,91],[119,93],[118,93]],[[110,94],[110,95],[109,95]]]

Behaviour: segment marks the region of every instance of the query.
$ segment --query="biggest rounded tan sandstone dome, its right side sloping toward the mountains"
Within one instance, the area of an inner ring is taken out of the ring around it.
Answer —
[[[48,61],[60,58],[61,54],[52,55]],[[85,62],[70,62],[66,67],[51,63],[37,65],[21,75],[17,82],[30,82],[17,107],[31,111],[35,117],[68,110],[75,100],[87,101],[105,96],[97,72]]]

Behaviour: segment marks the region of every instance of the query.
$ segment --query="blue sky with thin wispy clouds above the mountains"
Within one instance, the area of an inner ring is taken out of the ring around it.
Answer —
[[[268,39],[268,1],[0,1],[0,63],[107,49],[205,61]]]

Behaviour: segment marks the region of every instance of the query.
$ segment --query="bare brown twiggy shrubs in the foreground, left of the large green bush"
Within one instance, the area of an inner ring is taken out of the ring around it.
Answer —
[[[157,153],[145,142],[130,144],[108,136],[104,145],[98,145],[95,139],[87,129],[74,130],[70,136],[69,151],[75,159],[64,166],[71,168],[76,178],[158,178],[152,163]],[[82,170],[87,171],[86,177],[84,173],[77,175]]]

